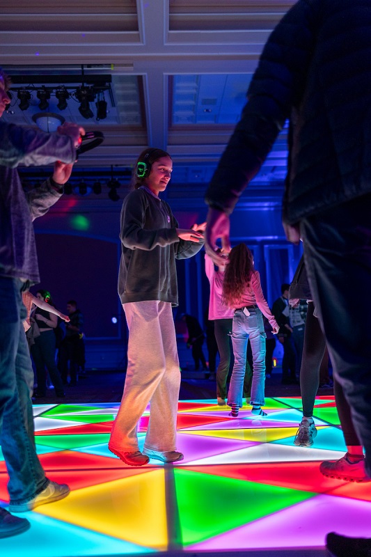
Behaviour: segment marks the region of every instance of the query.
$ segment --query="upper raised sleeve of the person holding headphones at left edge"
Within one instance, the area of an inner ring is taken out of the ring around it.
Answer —
[[[75,159],[76,151],[69,136],[0,123],[0,164],[3,166],[42,166],[56,160],[71,163]]]

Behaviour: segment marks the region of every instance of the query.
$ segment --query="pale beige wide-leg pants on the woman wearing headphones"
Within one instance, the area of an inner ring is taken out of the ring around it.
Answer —
[[[150,402],[145,448],[175,450],[180,366],[171,303],[136,301],[123,308],[129,327],[127,373],[109,443],[138,450],[137,425]]]

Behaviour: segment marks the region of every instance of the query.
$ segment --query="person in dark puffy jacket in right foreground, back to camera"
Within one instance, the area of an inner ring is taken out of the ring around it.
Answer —
[[[333,374],[371,476],[371,10],[369,0],[299,0],[262,52],[242,118],[207,189],[205,249],[229,247],[229,214],[290,122],[287,239],[305,246]],[[339,555],[338,538],[329,548]],[[366,555],[366,552],[352,555]],[[371,551],[371,541],[366,542]],[[358,544],[357,547],[364,547]],[[349,549],[349,548],[348,548]]]

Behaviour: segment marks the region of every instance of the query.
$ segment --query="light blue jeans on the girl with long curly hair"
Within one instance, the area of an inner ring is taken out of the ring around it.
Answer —
[[[242,407],[242,391],[246,369],[246,349],[250,339],[253,352],[253,383],[251,385],[251,405],[264,405],[265,386],[265,330],[262,312],[258,307],[249,308],[250,315],[240,309],[235,311],[232,324],[232,345],[235,365],[228,391],[228,405]]]

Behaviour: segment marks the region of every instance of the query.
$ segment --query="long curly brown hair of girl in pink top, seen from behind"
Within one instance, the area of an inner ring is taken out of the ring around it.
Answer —
[[[231,249],[223,280],[223,301],[230,308],[241,306],[241,300],[249,288],[254,272],[253,254],[246,244]]]

